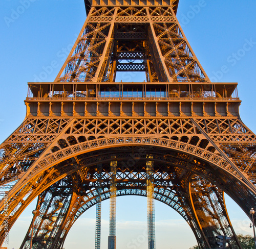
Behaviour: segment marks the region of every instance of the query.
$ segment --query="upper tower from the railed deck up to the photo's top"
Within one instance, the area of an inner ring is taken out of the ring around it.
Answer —
[[[238,116],[237,84],[210,82],[176,17],[178,1],[86,4],[55,81],[29,84],[28,115]],[[144,72],[144,79],[125,82],[123,72]]]

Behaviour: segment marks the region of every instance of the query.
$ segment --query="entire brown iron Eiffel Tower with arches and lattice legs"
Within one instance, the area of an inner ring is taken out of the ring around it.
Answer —
[[[115,197],[140,195],[148,248],[156,248],[154,200],[187,221],[200,248],[216,247],[217,235],[242,248],[224,192],[246,213],[254,206],[255,135],[240,119],[237,84],[207,77],[178,3],[85,1],[87,19],[65,64],[54,82],[28,83],[26,119],[0,147],[1,243],[6,223],[37,198],[20,248],[62,248],[94,205],[100,248],[100,204],[110,198],[116,248]],[[146,82],[115,81],[129,71],[145,72]]]

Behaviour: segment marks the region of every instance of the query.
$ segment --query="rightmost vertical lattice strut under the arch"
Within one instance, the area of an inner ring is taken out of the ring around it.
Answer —
[[[151,155],[147,158],[152,158]],[[147,194],[147,240],[148,249],[155,249],[155,204],[154,204],[154,163],[146,161],[146,194]]]

